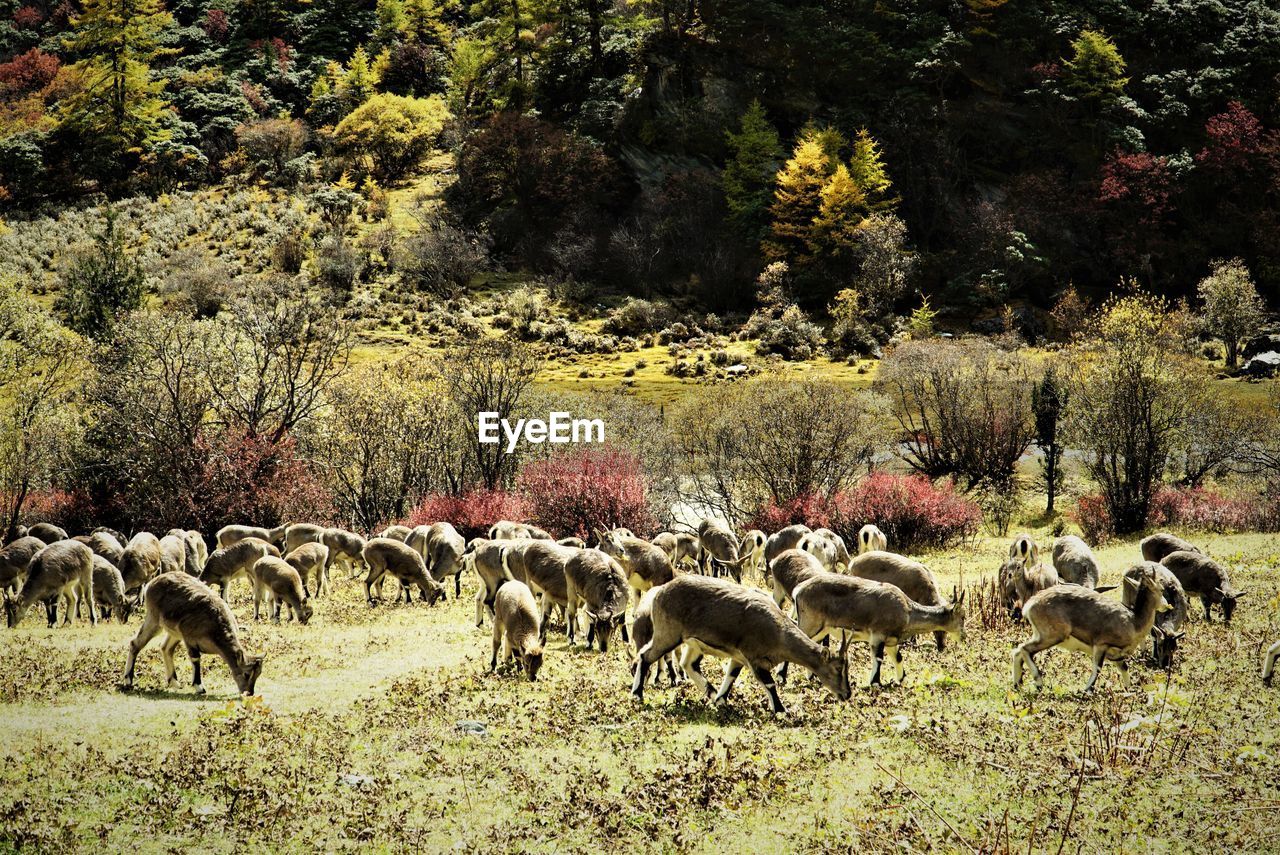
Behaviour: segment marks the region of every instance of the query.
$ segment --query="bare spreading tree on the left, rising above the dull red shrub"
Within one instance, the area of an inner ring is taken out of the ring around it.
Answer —
[[[218,319],[209,353],[215,410],[273,443],[323,404],[351,356],[351,329],[339,310],[287,288],[271,283],[234,301]]]

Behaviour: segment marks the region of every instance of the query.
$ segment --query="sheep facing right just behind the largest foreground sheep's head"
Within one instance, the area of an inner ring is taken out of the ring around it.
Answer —
[[[872,686],[881,682],[886,653],[893,658],[896,682],[906,678],[899,646],[902,641],[924,632],[964,637],[964,594],[957,591],[951,593],[950,603],[922,605],[896,585],[820,573],[796,586],[795,600],[800,631],[810,639],[840,630],[845,634],[845,644],[852,640],[870,645]]]

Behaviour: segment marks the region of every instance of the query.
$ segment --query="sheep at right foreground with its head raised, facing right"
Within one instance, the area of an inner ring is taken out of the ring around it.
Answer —
[[[1106,660],[1115,662],[1120,673],[1128,675],[1125,659],[1151,635],[1156,613],[1170,607],[1149,566],[1138,567],[1134,575],[1126,573],[1124,585],[1133,589],[1133,608],[1079,585],[1057,585],[1027,600],[1023,617],[1032,625],[1034,635],[1014,650],[1014,689],[1023,682],[1024,664],[1030,668],[1037,691],[1043,687],[1044,676],[1036,666],[1034,655],[1055,646],[1091,655],[1093,673],[1084,686],[1087,692],[1093,691]]]

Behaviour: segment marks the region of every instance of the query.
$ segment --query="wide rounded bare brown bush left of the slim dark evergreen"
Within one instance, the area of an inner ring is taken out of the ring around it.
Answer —
[[[911,468],[955,476],[966,490],[1012,483],[1036,435],[1019,355],[979,339],[908,342],[884,360],[878,385],[896,403],[900,454]]]

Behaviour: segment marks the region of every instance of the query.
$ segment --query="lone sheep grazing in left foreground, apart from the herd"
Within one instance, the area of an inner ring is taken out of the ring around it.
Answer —
[[[257,678],[262,673],[262,658],[244,655],[236,630],[236,617],[211,589],[186,573],[165,573],[147,585],[143,600],[146,613],[138,634],[129,641],[122,689],[125,691],[133,689],[133,669],[138,653],[160,631],[165,631],[168,635],[160,645],[160,653],[164,657],[165,682],[169,686],[177,682],[173,651],[179,644],[184,644],[191,658],[192,685],[196,687],[196,694],[205,694],[205,686],[200,681],[202,653],[220,655],[230,668],[239,692],[253,694]]]

